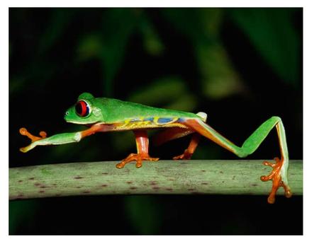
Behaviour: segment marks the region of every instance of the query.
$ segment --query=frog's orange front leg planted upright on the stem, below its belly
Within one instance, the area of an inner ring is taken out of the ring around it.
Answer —
[[[136,168],[142,167],[142,161],[158,161],[159,158],[151,158],[148,154],[148,137],[145,130],[135,130],[136,148],[138,153],[130,153],[130,155],[118,163],[116,168],[123,168],[126,163],[136,161]]]

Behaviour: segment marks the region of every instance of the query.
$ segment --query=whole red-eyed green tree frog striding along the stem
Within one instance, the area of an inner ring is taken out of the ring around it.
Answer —
[[[268,202],[274,203],[274,196],[280,186],[284,187],[286,197],[291,197],[291,190],[287,180],[287,170],[289,165],[288,149],[286,144],[286,135],[284,124],[279,117],[271,117],[260,125],[251,136],[249,136],[242,146],[236,146],[224,136],[216,132],[215,129],[206,124],[206,114],[198,112],[182,112],[178,110],[167,110],[156,107],[149,107],[136,103],[124,102],[111,98],[94,98],[90,93],[79,95],[77,104],[70,107],[65,112],[65,120],[74,124],[84,124],[89,127],[82,132],[55,134],[46,137],[42,132],[41,137],[33,136],[24,128],[20,129],[21,134],[32,139],[32,143],[24,148],[22,152],[27,152],[38,145],[69,144],[78,142],[85,136],[96,132],[111,132],[132,130],[135,133],[138,153],[132,153],[117,168],[123,168],[125,163],[136,161],[136,166],[142,166],[143,160],[157,161],[158,158],[151,158],[148,154],[148,138],[146,131],[152,128],[167,128],[159,133],[155,141],[162,144],[165,141],[177,139],[187,134],[193,134],[189,147],[179,158],[191,158],[194,153],[200,135],[205,136],[216,144],[235,153],[239,157],[245,157],[253,153],[264,141],[266,136],[276,127],[279,137],[279,147],[281,159],[275,158],[276,163],[264,162],[273,168],[268,176],[262,176],[261,180],[273,181],[272,192],[269,195]]]

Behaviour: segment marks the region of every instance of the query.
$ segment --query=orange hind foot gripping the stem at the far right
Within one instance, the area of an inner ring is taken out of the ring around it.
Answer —
[[[276,161],[276,163],[269,163],[267,161],[264,161],[264,165],[270,166],[273,169],[269,175],[260,177],[260,180],[262,180],[263,182],[272,180],[272,192],[270,192],[267,200],[269,204],[273,204],[275,202],[276,192],[279,187],[284,187],[285,196],[291,197],[291,190],[289,186],[286,185],[281,178],[281,167],[284,163],[284,160],[279,160],[279,158],[274,158],[274,160]]]

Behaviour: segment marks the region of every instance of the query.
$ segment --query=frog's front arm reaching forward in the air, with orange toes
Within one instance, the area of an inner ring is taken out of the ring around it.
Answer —
[[[72,132],[72,133],[63,133],[63,134],[55,134],[50,137],[47,137],[45,132],[40,132],[40,137],[34,136],[30,134],[26,128],[21,128],[19,130],[20,134],[28,136],[31,139],[31,144],[26,147],[20,148],[20,151],[26,153],[30,151],[35,146],[39,145],[57,145],[57,144],[69,144],[69,143],[77,143],[81,139],[91,134],[95,134],[96,132],[106,131],[105,126],[101,124],[94,124],[91,128],[86,129],[80,132]]]

